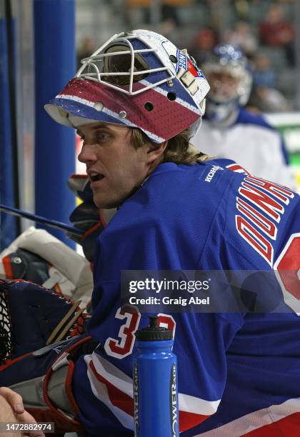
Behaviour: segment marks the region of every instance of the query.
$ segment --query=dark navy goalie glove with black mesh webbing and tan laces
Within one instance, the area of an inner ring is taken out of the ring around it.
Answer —
[[[0,280],[0,364],[85,332],[89,316],[55,291]]]

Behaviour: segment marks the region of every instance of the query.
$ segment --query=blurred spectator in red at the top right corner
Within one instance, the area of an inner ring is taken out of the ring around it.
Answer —
[[[261,44],[271,47],[282,47],[290,66],[295,66],[294,27],[286,21],[284,10],[279,4],[272,4],[266,19],[259,26]]]

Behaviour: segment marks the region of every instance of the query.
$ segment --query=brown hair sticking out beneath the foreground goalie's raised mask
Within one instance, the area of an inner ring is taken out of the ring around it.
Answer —
[[[143,131],[137,128],[131,128],[131,144],[135,149],[143,146],[145,143],[156,143],[150,141]],[[180,134],[168,140],[161,162],[174,162],[176,164],[195,164],[199,161],[207,161],[210,157],[197,150],[189,142],[189,129],[185,129]]]

